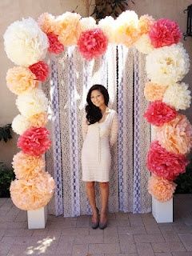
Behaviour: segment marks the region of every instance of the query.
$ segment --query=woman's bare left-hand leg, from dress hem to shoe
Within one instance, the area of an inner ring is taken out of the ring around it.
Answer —
[[[90,202],[90,207],[93,213],[92,222],[98,222],[98,211],[95,202],[94,182],[86,182],[86,195]]]

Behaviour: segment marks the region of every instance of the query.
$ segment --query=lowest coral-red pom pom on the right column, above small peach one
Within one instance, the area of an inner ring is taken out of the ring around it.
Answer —
[[[169,181],[177,178],[179,174],[186,171],[189,161],[183,154],[173,154],[159,145],[158,141],[152,142],[147,154],[147,168],[159,177],[166,178]]]

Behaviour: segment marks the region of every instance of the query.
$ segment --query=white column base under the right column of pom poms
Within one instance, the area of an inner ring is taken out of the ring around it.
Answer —
[[[167,202],[159,202],[157,199],[152,197],[152,214],[154,215],[154,218],[158,223],[173,222],[173,198],[171,198]]]

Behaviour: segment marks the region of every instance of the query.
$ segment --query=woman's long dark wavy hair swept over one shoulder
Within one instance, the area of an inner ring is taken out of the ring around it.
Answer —
[[[108,102],[110,99],[108,91],[106,90],[106,87],[104,87],[102,85],[94,85],[94,86],[90,87],[90,90],[86,96],[86,102],[88,104],[88,105],[86,105],[86,119],[88,120],[88,123],[90,125],[94,124],[95,122],[98,122],[102,118],[101,110],[99,109],[98,106],[95,106],[91,102],[91,99],[90,99],[90,95],[93,90],[100,91],[100,93],[104,97],[106,106],[108,106]]]

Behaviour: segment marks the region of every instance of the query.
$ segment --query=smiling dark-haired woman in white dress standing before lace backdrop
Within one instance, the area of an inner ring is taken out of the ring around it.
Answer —
[[[110,148],[118,138],[118,114],[108,108],[109,94],[104,86],[94,85],[86,98],[86,114],[82,118],[82,181],[92,209],[91,226],[106,228],[109,198]],[[101,213],[95,202],[94,182],[99,182]]]

